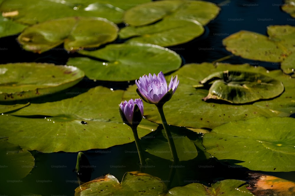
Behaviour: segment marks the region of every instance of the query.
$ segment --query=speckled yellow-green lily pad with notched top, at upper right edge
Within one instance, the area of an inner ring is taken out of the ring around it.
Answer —
[[[273,25],[267,27],[269,37],[251,31],[239,31],[222,43],[234,55],[258,61],[281,62],[295,50],[295,27]]]

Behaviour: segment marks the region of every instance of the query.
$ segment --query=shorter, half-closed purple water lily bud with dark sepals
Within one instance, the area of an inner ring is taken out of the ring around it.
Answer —
[[[122,121],[131,128],[136,128],[143,117],[143,102],[141,99],[130,99],[119,104],[119,113]]]

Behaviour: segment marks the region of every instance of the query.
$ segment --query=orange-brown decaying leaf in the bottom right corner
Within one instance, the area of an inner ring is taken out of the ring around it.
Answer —
[[[247,187],[255,195],[294,195],[295,183],[275,176],[260,173],[249,175],[253,180],[249,180]]]

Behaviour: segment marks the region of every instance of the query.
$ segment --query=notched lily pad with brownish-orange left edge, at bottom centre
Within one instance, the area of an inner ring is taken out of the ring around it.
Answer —
[[[106,174],[77,187],[75,196],[86,195],[164,195],[165,183],[146,173],[126,172],[122,182]]]

